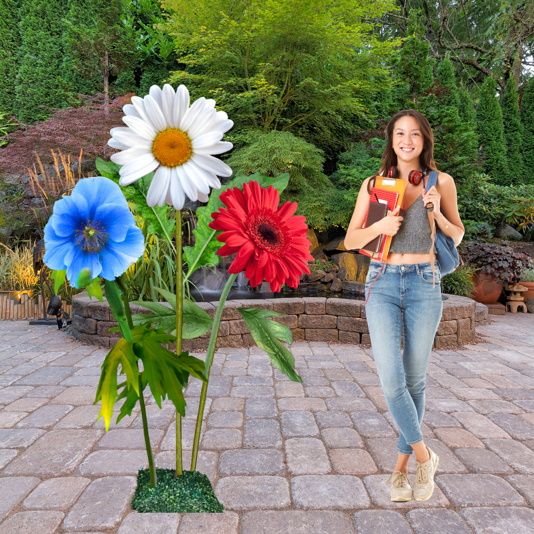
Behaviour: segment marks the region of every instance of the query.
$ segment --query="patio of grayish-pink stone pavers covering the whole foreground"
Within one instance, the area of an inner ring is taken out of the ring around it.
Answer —
[[[310,342],[292,348],[302,385],[256,347],[217,352],[198,467],[226,512],[181,516],[130,510],[147,464],[142,422],[132,413],[108,434],[95,423],[107,349],[2,321],[0,534],[532,532],[534,320],[490,317],[477,328],[486,343],[430,360],[423,432],[440,457],[430,500],[389,500],[397,430],[372,350]],[[199,393],[198,381],[186,391],[186,449]],[[174,407],[147,411],[156,462],[174,467]]]

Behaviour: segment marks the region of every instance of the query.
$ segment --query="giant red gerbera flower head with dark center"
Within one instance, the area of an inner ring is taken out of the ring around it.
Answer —
[[[225,242],[219,255],[237,253],[228,272],[245,270],[252,287],[265,279],[273,291],[280,291],[282,284],[297,287],[301,274],[310,274],[308,226],[305,217],[293,216],[296,202],[278,208],[278,189],[264,189],[257,182],[244,184],[243,191],[228,189],[219,198],[228,209],[211,214],[209,227],[223,231],[217,237]]]

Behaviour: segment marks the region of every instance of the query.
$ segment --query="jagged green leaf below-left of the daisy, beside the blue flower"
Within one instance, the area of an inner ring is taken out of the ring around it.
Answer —
[[[97,158],[96,167],[102,176],[113,180],[117,185],[119,184],[120,165],[113,163],[113,161],[104,161]],[[119,187],[124,193],[124,197],[126,197],[129,202],[135,204],[137,213],[142,215],[145,221],[148,221],[148,232],[160,234],[172,244],[170,236],[176,228],[176,222],[169,219],[169,210],[171,208],[169,206],[163,206],[162,208],[154,206],[153,208],[150,208],[146,203],[146,194],[153,176],[154,173],[150,172],[146,176],[143,176],[143,178],[139,178],[136,182],[133,182],[131,185]]]

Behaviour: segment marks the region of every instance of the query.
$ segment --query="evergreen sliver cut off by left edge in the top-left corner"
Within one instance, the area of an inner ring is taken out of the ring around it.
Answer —
[[[17,12],[14,0],[0,0],[0,113],[9,115],[13,114],[20,45]]]

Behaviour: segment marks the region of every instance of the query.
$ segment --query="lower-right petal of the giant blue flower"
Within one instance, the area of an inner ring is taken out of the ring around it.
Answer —
[[[128,229],[126,237],[121,242],[107,241],[106,249],[100,253],[102,273],[106,280],[114,280],[121,276],[132,263],[135,263],[145,252],[145,239],[143,232],[132,226]]]

